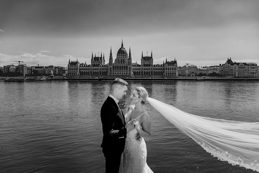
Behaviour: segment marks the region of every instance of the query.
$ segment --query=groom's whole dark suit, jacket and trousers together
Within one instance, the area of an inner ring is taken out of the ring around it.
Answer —
[[[101,121],[103,131],[101,147],[105,157],[105,170],[119,172],[127,129],[125,117],[111,97],[108,97],[102,105]]]

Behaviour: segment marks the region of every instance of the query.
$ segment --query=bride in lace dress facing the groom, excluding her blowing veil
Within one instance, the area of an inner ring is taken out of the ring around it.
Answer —
[[[146,163],[146,143],[151,137],[151,120],[144,109],[148,99],[145,88],[137,87],[130,96],[131,103],[125,121],[135,129],[127,133],[123,152],[123,173],[153,173]],[[145,140],[144,140],[145,139]]]

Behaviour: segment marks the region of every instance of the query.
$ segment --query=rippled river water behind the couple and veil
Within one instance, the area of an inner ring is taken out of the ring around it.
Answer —
[[[259,82],[128,81],[185,112],[258,122]],[[100,109],[111,81],[0,81],[0,172],[104,172]],[[154,172],[247,173],[219,161],[146,106],[152,137],[147,164]],[[120,169],[121,171],[121,169]]]

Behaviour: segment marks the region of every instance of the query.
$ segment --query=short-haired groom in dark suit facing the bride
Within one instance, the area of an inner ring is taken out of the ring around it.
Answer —
[[[119,172],[126,134],[134,129],[134,125],[125,128],[125,117],[119,106],[119,100],[126,95],[127,86],[128,83],[121,78],[113,80],[111,94],[101,108],[103,131],[101,148],[105,157],[105,172]]]

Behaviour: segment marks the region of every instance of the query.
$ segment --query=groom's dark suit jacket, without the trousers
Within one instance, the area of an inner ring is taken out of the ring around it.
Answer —
[[[123,153],[127,129],[125,117],[113,98],[108,97],[101,108],[103,151]]]

